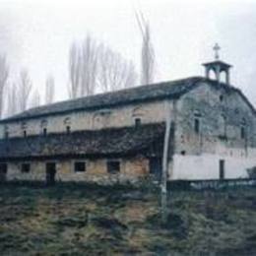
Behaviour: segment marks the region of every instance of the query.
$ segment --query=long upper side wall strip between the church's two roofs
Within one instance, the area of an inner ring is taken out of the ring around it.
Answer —
[[[41,134],[43,128],[47,129],[47,133],[60,133],[66,132],[67,126],[70,126],[71,131],[132,126],[136,118],[141,118],[142,123],[162,122],[164,120],[163,102],[164,100],[51,115],[13,122],[7,125],[7,129],[9,137],[23,137],[24,130],[27,136],[30,136]],[[4,125],[0,124],[0,138],[4,137],[4,129]]]

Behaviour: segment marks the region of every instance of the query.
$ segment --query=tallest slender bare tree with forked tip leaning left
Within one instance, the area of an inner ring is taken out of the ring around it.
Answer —
[[[136,20],[142,34],[141,56],[141,84],[148,85],[154,82],[155,76],[155,50],[152,43],[151,29],[142,12],[135,12]]]

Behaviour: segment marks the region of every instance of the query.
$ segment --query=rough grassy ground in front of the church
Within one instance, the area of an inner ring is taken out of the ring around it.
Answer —
[[[256,255],[256,188],[157,192],[1,185],[1,255]],[[216,254],[215,254],[216,253]]]

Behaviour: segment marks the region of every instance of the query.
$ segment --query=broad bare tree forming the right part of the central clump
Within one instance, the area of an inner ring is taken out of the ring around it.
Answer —
[[[133,87],[136,80],[137,73],[131,61],[109,47],[100,47],[97,81],[103,92]]]

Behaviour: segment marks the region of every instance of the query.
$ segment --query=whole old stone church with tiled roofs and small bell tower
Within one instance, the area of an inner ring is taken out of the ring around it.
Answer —
[[[1,181],[160,180],[162,170],[167,180],[248,178],[256,168],[256,110],[230,85],[231,66],[218,55],[203,66],[205,77],[56,102],[0,120]]]

